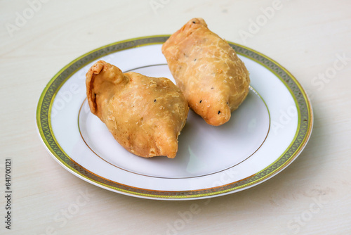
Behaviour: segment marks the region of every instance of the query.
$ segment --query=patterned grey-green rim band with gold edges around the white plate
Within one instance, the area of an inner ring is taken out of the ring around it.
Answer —
[[[62,87],[62,84],[65,84],[69,77],[74,74],[74,72],[77,72],[77,70],[83,68],[84,65],[87,65],[91,61],[97,60],[102,56],[107,56],[110,53],[131,49],[138,46],[162,44],[166,42],[169,36],[170,35],[139,37],[102,46],[75,59],[62,68],[62,70],[60,70],[50,80],[50,82],[48,82],[39,98],[37,106],[37,126],[41,139],[44,141],[48,151],[50,151],[56,160],[67,167],[67,169],[86,179],[88,182],[94,182],[96,184],[100,184],[101,186],[107,187],[107,189],[114,189],[131,196],[143,196],[145,198],[203,198],[230,191],[239,191],[239,189],[244,189],[245,187],[262,182],[283,170],[287,165],[289,165],[289,163],[291,163],[292,160],[297,158],[300,151],[302,151],[304,146],[307,144],[312,132],[312,106],[307,98],[307,95],[305,94],[305,91],[298,83],[296,78],[293,77],[288,70],[283,68],[282,65],[279,65],[277,62],[273,61],[271,58],[268,58],[262,53],[259,53],[258,51],[254,51],[246,46],[241,46],[232,42],[229,42],[230,46],[232,46],[232,48],[241,56],[245,56],[246,58],[260,63],[260,65],[263,65],[265,68],[272,71],[274,75],[277,75],[279,80],[281,80],[286,88],[289,89],[296,103],[298,110],[298,129],[293,141],[291,141],[290,146],[282,155],[279,156],[279,158],[277,158],[277,160],[274,161],[274,163],[265,167],[265,169],[261,170],[260,172],[247,177],[246,179],[241,179],[238,182],[232,182],[223,186],[192,191],[157,191],[135,188],[133,186],[113,182],[109,179],[105,179],[97,174],[94,174],[69,158],[69,155],[62,150],[58,144],[58,141],[56,141],[55,135],[53,134],[53,129],[51,127],[51,108],[53,106],[55,95],[60,90],[60,87]]]

